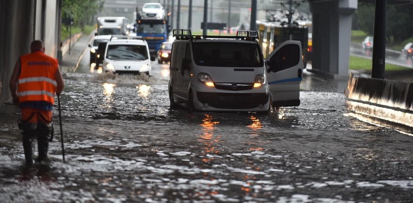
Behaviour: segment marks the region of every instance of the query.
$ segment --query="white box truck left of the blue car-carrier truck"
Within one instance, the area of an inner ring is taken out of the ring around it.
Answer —
[[[96,35],[127,35],[127,24],[128,20],[125,17],[98,17]]]

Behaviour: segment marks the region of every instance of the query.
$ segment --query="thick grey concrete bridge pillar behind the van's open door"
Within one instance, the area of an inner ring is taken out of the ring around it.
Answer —
[[[313,13],[312,71],[347,78],[357,0],[309,2]]]

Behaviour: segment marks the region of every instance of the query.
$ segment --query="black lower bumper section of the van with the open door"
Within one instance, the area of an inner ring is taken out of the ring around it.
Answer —
[[[266,93],[210,93],[197,92],[198,101],[214,108],[250,109],[268,102]]]

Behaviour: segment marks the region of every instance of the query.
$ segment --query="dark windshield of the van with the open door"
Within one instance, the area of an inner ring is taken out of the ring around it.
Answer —
[[[258,44],[238,42],[195,42],[194,61],[200,66],[263,67]]]

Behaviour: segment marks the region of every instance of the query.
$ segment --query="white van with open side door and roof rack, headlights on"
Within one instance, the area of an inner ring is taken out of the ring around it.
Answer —
[[[300,104],[303,62],[299,41],[283,42],[264,59],[256,31],[204,36],[180,29],[173,36],[172,108],[270,112],[271,107]]]

